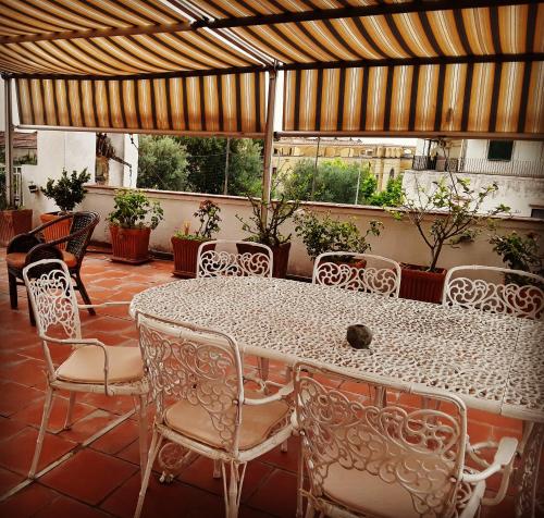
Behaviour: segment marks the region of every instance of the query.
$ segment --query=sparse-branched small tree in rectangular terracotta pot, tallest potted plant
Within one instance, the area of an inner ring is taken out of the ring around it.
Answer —
[[[482,206],[489,196],[497,192],[496,183],[474,189],[470,181],[454,176],[444,176],[433,182],[426,189],[419,187],[416,196],[408,197],[403,193],[403,212],[391,211],[395,219],[405,218],[418,230],[423,243],[429,248],[430,261],[426,266],[401,264],[400,297],[438,304],[446,270],[438,268],[438,259],[444,246],[454,246],[463,240],[471,240],[478,233]],[[498,207],[485,212],[494,215],[508,212],[508,207]],[[430,226],[426,220],[433,217]]]

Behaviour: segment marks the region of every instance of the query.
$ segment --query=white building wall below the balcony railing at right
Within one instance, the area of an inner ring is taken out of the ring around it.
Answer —
[[[482,212],[487,212],[496,206],[504,203],[510,207],[512,214],[520,217],[531,215],[531,205],[544,203],[544,178],[524,178],[514,176],[498,176],[489,174],[458,173],[455,176],[470,180],[470,185],[477,192],[493,183],[498,190],[489,196],[482,205]],[[433,182],[441,178],[449,178],[447,174],[435,171],[405,171],[403,176],[403,188],[410,199],[416,199],[418,186],[424,189],[433,189]]]

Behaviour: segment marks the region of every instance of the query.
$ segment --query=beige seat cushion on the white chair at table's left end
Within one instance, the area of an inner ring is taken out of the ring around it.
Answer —
[[[144,375],[139,347],[106,346],[109,357],[109,383],[127,383]],[[101,347],[84,345],[57,370],[57,378],[78,383],[103,383],[104,355]]]

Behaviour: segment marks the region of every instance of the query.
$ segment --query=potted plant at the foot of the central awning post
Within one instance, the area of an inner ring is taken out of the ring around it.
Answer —
[[[287,201],[284,195],[270,203],[260,198],[248,197],[248,199],[252,211],[249,222],[238,214],[236,214],[236,218],[242,222],[242,230],[251,235],[246,239],[247,245],[238,245],[238,251],[240,254],[261,251],[260,249],[257,250],[257,247],[251,247],[251,242],[269,246],[272,249],[274,259],[272,275],[284,279],[289,262],[292,234],[282,235],[280,226],[293,217],[298,209],[299,201]],[[264,217],[261,214],[264,214]]]

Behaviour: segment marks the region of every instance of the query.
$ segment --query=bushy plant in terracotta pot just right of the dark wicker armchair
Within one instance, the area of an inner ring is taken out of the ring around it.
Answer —
[[[151,202],[146,194],[137,189],[119,189],[113,198],[110,222],[113,261],[141,264],[149,260],[149,236],[151,230],[163,219],[158,201]]]

